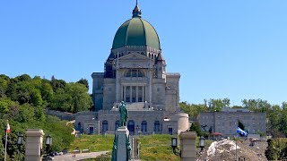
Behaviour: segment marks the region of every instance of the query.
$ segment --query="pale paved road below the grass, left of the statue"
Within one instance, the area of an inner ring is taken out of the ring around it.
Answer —
[[[81,160],[85,158],[95,158],[100,156],[101,154],[106,154],[108,151],[100,151],[100,152],[91,152],[91,153],[81,153],[76,154],[75,157],[73,157],[73,154],[65,154],[63,156],[55,156],[54,161],[76,161]]]

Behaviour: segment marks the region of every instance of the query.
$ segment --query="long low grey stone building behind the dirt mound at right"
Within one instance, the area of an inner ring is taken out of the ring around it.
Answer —
[[[225,137],[237,135],[239,121],[245,125],[248,134],[266,133],[266,114],[249,112],[248,109],[223,108],[222,112],[201,113],[197,121],[201,126],[206,126],[206,131],[212,128],[213,132],[220,132]]]

